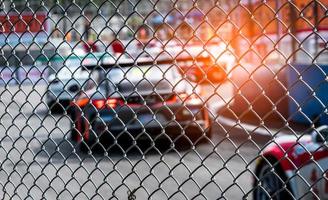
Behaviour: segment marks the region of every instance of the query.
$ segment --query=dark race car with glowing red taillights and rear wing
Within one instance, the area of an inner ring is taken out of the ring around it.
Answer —
[[[69,109],[72,138],[82,150],[120,140],[211,137],[206,106],[174,63],[145,58],[85,66],[102,70]]]

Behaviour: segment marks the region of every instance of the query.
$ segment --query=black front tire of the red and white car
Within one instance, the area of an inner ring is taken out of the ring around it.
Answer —
[[[255,170],[254,200],[294,199],[287,177],[275,159],[263,159]],[[274,170],[272,170],[274,168]],[[285,183],[285,184],[284,184]]]

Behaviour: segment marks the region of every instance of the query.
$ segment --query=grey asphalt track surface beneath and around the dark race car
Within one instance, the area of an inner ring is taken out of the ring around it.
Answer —
[[[68,117],[48,113],[44,91],[0,89],[1,199],[129,199],[132,191],[135,199],[251,198],[255,159],[270,139],[260,129],[219,117],[211,140],[195,147],[138,144],[88,154],[70,139]]]

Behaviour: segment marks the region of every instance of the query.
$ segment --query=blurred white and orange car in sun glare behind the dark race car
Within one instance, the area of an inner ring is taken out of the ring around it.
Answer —
[[[182,45],[175,40],[167,41],[166,45],[155,40],[142,44],[138,41],[125,42],[125,50],[129,57],[136,59],[138,57],[157,58],[167,55],[171,59],[183,60],[186,57],[192,57],[192,60],[179,62],[179,69],[192,81],[199,84],[220,84],[231,78],[232,69],[236,66],[236,59],[233,55],[233,49],[222,42],[214,41],[212,43],[199,44],[190,42]],[[201,64],[193,62],[203,59]],[[205,59],[205,60],[204,60]],[[213,77],[214,76],[214,77]],[[214,79],[212,79],[214,78]],[[208,81],[215,80],[215,81]]]

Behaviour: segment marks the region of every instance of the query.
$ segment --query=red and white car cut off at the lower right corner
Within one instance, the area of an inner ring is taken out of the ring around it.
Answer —
[[[254,199],[328,199],[328,126],[282,136],[256,161]]]

